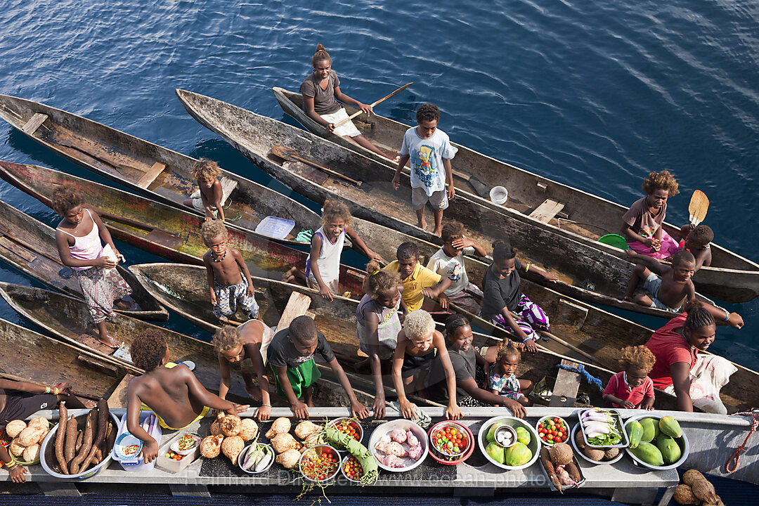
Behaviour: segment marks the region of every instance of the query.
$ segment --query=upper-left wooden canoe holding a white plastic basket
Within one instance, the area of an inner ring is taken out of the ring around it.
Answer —
[[[192,178],[197,159],[82,116],[14,96],[0,95],[0,118],[72,162],[153,200],[202,215],[183,204],[197,189]],[[302,246],[295,240],[301,228],[316,230],[320,226],[317,213],[269,187],[223,169],[221,180],[225,186],[234,186],[228,197],[231,204],[225,207],[230,228],[256,231],[266,216],[285,218],[294,226],[277,241]],[[263,233],[260,237],[270,239]]]

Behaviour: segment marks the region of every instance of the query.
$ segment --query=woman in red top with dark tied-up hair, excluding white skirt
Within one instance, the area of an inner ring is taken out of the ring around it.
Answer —
[[[660,390],[673,388],[681,411],[693,410],[690,372],[698,360],[698,352],[707,350],[715,335],[714,317],[699,305],[669,320],[646,343],[657,357],[648,374],[653,386]]]

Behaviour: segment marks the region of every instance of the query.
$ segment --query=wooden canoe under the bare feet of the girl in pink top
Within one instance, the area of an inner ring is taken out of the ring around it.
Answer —
[[[89,350],[100,360],[115,364],[131,374],[144,372],[131,363],[128,354],[116,357],[112,348],[98,341],[97,328],[90,318],[87,305],[81,300],[42,288],[3,281],[0,281],[0,295],[21,316],[68,344]],[[117,341],[124,341],[124,347],[147,330],[160,332],[166,338],[171,360],[192,360],[196,365],[195,376],[203,386],[210,391],[219,391],[219,358],[210,344],[118,313],[110,317],[106,325],[110,335]],[[121,351],[128,350],[122,348]],[[247,398],[244,385],[237,379],[233,380],[230,393],[238,399]]]

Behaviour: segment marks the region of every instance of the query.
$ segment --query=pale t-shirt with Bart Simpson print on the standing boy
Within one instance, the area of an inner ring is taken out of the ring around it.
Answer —
[[[417,127],[411,127],[403,135],[401,156],[411,157],[411,187],[424,188],[427,195],[446,188],[446,168],[442,159],[452,159],[456,155],[448,134],[440,129],[432,137],[422,139]]]

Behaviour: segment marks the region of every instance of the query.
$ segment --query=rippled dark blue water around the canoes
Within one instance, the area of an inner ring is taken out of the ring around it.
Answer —
[[[184,88],[285,118],[272,86],[297,89],[322,42],[342,90],[411,123],[442,110],[453,140],[619,203],[648,171],[676,174],[671,222],[699,188],[717,242],[759,259],[759,6],[756,2],[74,2],[6,0],[0,93],[46,102],[248,178],[271,181],[197,124]],[[108,182],[0,124],[0,159]],[[455,168],[455,162],[454,162]],[[110,183],[109,183],[110,184]],[[5,182],[0,198],[55,226],[55,214]],[[128,263],[161,259],[119,245]],[[354,261],[358,261],[354,258]],[[34,284],[0,262],[0,278]],[[730,306],[741,331],[713,350],[755,366],[759,302]],[[648,326],[657,319],[631,316]],[[0,303],[0,317],[22,320]],[[29,325],[27,322],[24,322]],[[169,327],[200,337],[177,315]]]

